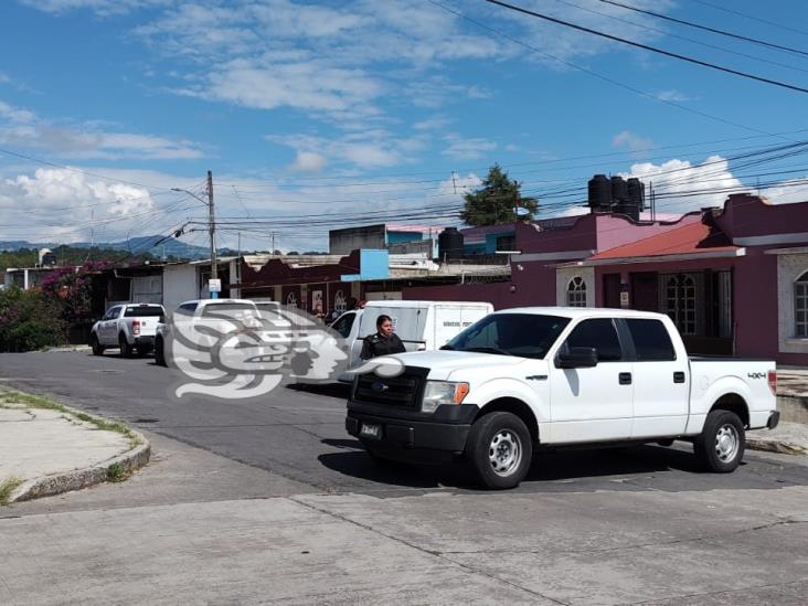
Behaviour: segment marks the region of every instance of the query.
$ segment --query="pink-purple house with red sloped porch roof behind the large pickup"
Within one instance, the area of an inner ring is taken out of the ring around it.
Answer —
[[[676,221],[539,221],[517,226],[517,248],[508,283],[407,289],[405,298],[660,311],[693,353],[808,365],[808,202],[737,194]]]

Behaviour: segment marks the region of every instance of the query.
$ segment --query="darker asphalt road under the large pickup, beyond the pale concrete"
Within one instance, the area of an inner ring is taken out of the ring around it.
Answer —
[[[347,390],[279,387],[259,402],[169,397],[179,374],[151,359],[95,358],[87,352],[0,354],[0,378],[53,394],[81,408],[276,472],[318,491],[403,495],[465,490],[459,467],[376,467],[343,427]],[[627,451],[546,454],[533,466],[523,492],[595,490],[693,491],[808,486],[808,468],[747,453],[727,476],[701,474],[688,445]]]

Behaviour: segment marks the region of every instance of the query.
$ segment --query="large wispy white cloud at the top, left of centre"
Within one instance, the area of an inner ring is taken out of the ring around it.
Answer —
[[[380,97],[401,99],[402,88],[411,103],[429,107],[456,95],[489,97],[479,85],[445,78],[410,87],[413,71],[429,72],[437,61],[501,55],[499,42],[463,26],[436,7],[401,0],[357,0],[338,9],[242,0],[184,2],[135,31],[167,57],[190,61],[191,84],[174,87],[178,94],[342,120],[381,115]]]

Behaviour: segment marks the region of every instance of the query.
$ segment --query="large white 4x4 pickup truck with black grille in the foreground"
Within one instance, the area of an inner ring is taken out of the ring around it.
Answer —
[[[689,358],[659,313],[509,309],[442,350],[380,358],[386,372],[355,378],[345,428],[374,458],[463,455],[482,486],[502,489],[543,448],[682,439],[705,469],[727,472],[745,429],[779,421],[774,362]]]

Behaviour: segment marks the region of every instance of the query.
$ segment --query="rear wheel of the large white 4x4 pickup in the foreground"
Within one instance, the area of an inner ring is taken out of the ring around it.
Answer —
[[[731,411],[712,411],[701,434],[693,439],[693,453],[701,467],[716,474],[734,471],[745,449],[744,424]]]

